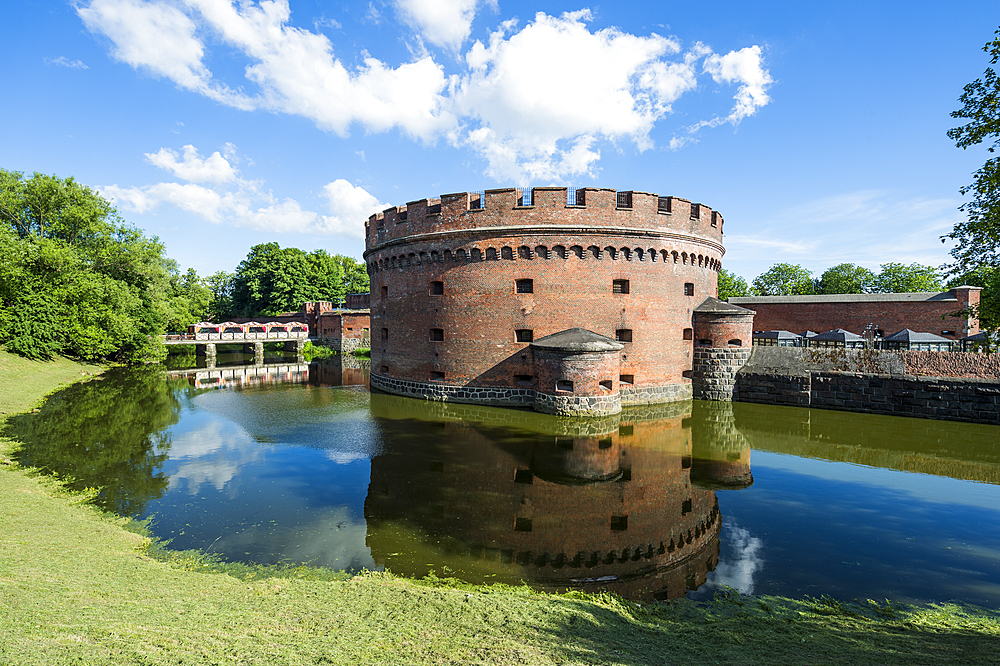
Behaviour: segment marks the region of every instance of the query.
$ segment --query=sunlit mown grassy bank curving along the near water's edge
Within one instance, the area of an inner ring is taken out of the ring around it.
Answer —
[[[0,369],[20,363],[0,352]],[[0,384],[0,409],[94,370],[25,366]],[[739,595],[640,607],[378,573],[225,575],[165,561],[123,526],[0,464],[0,664],[1000,664],[991,611]]]

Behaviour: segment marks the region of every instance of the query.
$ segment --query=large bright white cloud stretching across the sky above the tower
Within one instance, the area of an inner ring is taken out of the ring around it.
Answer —
[[[115,58],[183,89],[299,115],[338,135],[360,127],[443,139],[475,151],[498,181],[595,175],[603,145],[650,148],[674,102],[700,88],[735,88],[732,106],[688,124],[672,148],[770,102],[772,79],[756,45],[720,54],[675,37],[592,29],[585,9],[539,12],[523,26],[505,21],[485,43],[469,44],[478,0],[394,3],[401,30],[420,42],[395,65],[365,52],[345,65],[327,36],[291,23],[287,0],[90,0],[77,12],[110,40]],[[438,62],[426,44],[446,57]],[[217,80],[209,46],[245,62],[245,80]]]

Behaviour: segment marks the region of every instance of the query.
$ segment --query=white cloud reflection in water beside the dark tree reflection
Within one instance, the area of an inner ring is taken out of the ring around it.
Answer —
[[[173,436],[170,459],[179,464],[170,475],[170,490],[186,483],[188,493],[195,495],[203,483],[210,483],[221,492],[242,465],[260,455],[260,445],[242,429],[213,419]]]

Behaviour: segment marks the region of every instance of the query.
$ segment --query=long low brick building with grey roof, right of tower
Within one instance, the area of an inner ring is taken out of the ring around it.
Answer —
[[[979,305],[980,287],[909,294],[814,294],[733,297],[730,303],[756,312],[755,331],[830,331],[861,334],[871,324],[885,337],[904,328],[958,340],[979,332],[967,310]],[[955,316],[960,312],[966,313]]]

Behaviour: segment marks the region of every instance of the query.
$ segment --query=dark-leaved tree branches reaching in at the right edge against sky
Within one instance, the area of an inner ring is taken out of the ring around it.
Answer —
[[[983,51],[990,55],[990,64],[1000,60],[1000,29],[997,37],[988,42]],[[952,111],[952,118],[968,119],[968,123],[948,131],[948,137],[963,150],[984,141],[995,153],[1000,147],[1000,79],[992,67],[987,67],[982,78],[965,86],[959,97],[962,108]],[[951,251],[954,264],[951,272],[975,269],[978,265],[1000,267],[1000,157],[991,157],[973,175],[972,184],[961,189],[962,194],[972,193],[972,200],[962,204],[960,210],[968,219],[959,222],[942,242],[950,238],[957,244]]]

